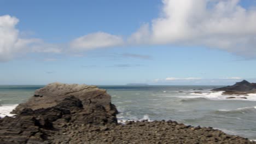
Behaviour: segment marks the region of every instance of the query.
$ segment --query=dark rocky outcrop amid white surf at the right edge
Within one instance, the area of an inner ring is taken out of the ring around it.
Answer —
[[[212,91],[224,91],[223,94],[227,95],[246,95],[249,93],[256,93],[256,83],[250,83],[246,80],[243,80],[232,86],[214,88]]]

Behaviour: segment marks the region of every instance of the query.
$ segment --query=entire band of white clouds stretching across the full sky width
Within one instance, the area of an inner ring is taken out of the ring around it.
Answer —
[[[24,39],[15,27],[19,19],[0,16],[0,61],[28,52],[76,53],[141,44],[204,46],[256,58],[256,9],[243,8],[240,0],[162,0],[162,4],[160,16],[144,23],[127,39],[95,32],[64,44]],[[124,56],[149,59],[136,54]]]

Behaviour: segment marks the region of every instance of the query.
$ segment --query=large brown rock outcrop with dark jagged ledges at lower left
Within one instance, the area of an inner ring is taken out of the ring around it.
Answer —
[[[42,142],[68,123],[117,124],[118,111],[104,89],[51,83],[12,113],[15,118],[0,119],[0,141],[6,143]]]

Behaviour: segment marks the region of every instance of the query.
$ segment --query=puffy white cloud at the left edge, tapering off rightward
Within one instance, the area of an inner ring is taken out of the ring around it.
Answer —
[[[26,52],[60,52],[60,47],[45,44],[40,39],[23,39],[15,26],[19,19],[9,15],[0,16],[0,61],[8,61],[15,55]]]

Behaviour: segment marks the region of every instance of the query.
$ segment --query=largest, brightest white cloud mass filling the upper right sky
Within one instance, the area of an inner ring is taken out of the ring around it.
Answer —
[[[136,44],[149,38],[148,44],[207,46],[256,57],[256,10],[242,8],[239,2],[162,0],[161,16],[130,39]]]

